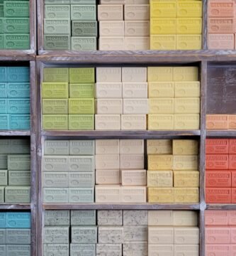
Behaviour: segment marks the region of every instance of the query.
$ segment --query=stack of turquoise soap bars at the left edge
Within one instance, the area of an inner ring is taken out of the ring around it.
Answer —
[[[30,129],[29,68],[0,67],[0,73],[0,129]]]

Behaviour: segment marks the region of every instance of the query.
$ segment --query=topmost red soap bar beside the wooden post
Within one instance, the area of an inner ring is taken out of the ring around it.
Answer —
[[[206,139],[206,154],[228,154],[228,139]]]

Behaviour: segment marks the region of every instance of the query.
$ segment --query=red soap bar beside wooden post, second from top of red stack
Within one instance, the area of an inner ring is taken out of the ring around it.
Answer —
[[[228,159],[227,154],[208,154],[206,155],[206,169],[208,170],[220,170],[228,169]]]

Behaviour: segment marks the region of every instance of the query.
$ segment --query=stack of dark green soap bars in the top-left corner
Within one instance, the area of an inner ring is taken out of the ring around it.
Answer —
[[[30,48],[29,1],[1,1],[0,49]]]

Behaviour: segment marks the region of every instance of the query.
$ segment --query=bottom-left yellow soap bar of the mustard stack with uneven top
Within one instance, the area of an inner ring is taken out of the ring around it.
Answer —
[[[174,203],[174,188],[148,188],[148,203]]]

